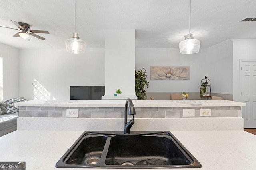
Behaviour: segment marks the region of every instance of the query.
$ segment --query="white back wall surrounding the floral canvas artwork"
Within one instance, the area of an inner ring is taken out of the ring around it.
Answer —
[[[136,48],[135,68],[145,68],[149,87],[146,92],[200,92],[200,82],[208,76],[208,50],[180,54],[179,49]],[[190,80],[150,80],[150,66],[189,66]]]

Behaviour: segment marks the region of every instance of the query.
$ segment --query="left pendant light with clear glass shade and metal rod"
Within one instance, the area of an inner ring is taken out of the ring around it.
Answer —
[[[75,0],[75,16],[76,16],[76,0]],[[82,54],[85,51],[85,42],[78,37],[76,33],[76,17],[75,17],[75,33],[73,37],[65,41],[66,50],[68,53],[72,54]]]

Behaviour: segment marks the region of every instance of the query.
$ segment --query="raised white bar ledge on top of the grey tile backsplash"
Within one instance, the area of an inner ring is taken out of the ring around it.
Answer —
[[[124,107],[125,101],[126,100],[59,100],[58,102],[58,100],[56,100],[56,104],[46,104],[46,100],[29,100],[26,102],[19,102],[15,105],[56,107]],[[246,106],[245,103],[234,102],[230,100],[132,100],[132,102],[135,107]],[[202,104],[199,104],[200,102]]]

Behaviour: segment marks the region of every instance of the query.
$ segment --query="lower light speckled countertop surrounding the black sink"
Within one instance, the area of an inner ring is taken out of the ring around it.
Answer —
[[[253,170],[256,167],[256,135],[245,131],[171,132],[202,164],[198,170]],[[25,161],[26,170],[74,170],[55,168],[55,164],[82,133],[14,131],[0,137],[0,161]]]

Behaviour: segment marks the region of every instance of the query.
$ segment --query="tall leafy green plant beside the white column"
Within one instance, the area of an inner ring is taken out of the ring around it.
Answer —
[[[145,87],[148,88],[149,82],[146,80],[146,70],[142,68],[142,70],[135,70],[135,93],[138,100],[146,100],[146,90]]]

